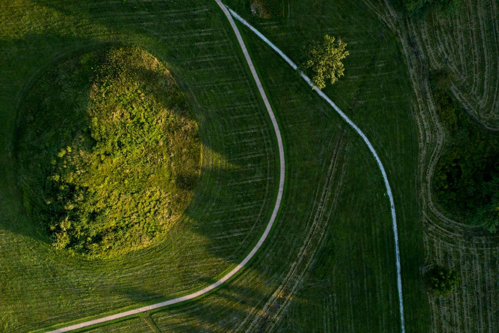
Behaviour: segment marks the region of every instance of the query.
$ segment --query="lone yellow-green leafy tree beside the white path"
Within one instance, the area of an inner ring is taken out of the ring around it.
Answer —
[[[326,87],[326,79],[334,84],[344,75],[345,67],[341,61],[349,54],[346,46],[341,39],[324,35],[322,42],[314,41],[306,47],[300,70],[313,72],[312,83],[318,89]]]

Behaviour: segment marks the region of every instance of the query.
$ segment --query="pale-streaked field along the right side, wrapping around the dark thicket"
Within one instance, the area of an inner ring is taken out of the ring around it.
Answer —
[[[452,91],[470,116],[489,130],[496,128],[497,112],[496,3],[474,0],[462,3],[448,18],[428,16],[425,21],[407,19],[385,2],[366,1],[380,19],[397,31],[414,91],[413,108],[420,136],[419,181],[428,263],[446,265],[461,275],[457,292],[447,298],[429,295],[431,327],[436,332],[498,329],[497,253],[499,237],[483,228],[469,227],[443,214],[431,191],[433,170],[448,140],[438,118],[428,74],[443,67],[456,73]],[[486,33],[489,31],[489,33]],[[436,38],[434,38],[436,37]],[[480,45],[480,46],[478,46]],[[479,70],[488,64],[489,70]],[[472,84],[473,82],[473,84]],[[468,87],[468,88],[465,88]],[[469,87],[474,87],[470,93]],[[469,93],[469,94],[468,94]],[[463,96],[467,97],[463,99]],[[483,105],[489,105],[482,108]],[[479,115],[478,115],[479,114]],[[478,115],[478,116],[477,116]],[[490,116],[490,117],[489,117]]]

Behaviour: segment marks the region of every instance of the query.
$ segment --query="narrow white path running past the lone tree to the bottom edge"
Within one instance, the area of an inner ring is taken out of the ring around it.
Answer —
[[[219,0],[216,0],[219,2]],[[275,46],[272,42],[270,42],[264,35],[262,35],[258,30],[255,29],[250,23],[248,23],[246,20],[244,20],[242,17],[240,17],[236,12],[234,12],[232,9],[227,7],[230,11],[230,13],[242,24],[244,24],[248,29],[250,29],[252,32],[254,32],[260,39],[262,39],[267,45],[269,45],[275,52],[281,56],[294,70],[298,70],[298,66],[296,66],[295,63],[289,59],[286,54],[284,54],[277,46]],[[386,192],[388,197],[390,198],[390,209],[392,211],[392,229],[393,229],[393,234],[394,234],[394,239],[395,239],[395,260],[396,260],[396,265],[397,265],[397,289],[399,293],[399,308],[400,308],[400,324],[401,324],[401,331],[402,333],[405,333],[405,320],[404,320],[404,306],[403,306],[403,300],[402,300],[402,276],[401,276],[401,268],[400,268],[400,251],[399,251],[399,237],[398,237],[398,231],[397,231],[397,218],[395,215],[395,204],[394,204],[394,199],[392,195],[392,188],[390,187],[390,183],[388,182],[388,178],[386,176],[386,172],[384,170],[383,164],[381,163],[381,160],[374,150],[373,145],[371,142],[368,140],[367,136],[361,131],[360,128],[358,128],[357,125],[355,125],[354,122],[348,118],[348,116],[343,113],[343,111],[335,104],[335,102],[331,101],[329,97],[326,96],[321,90],[317,89],[310,78],[303,74],[300,73],[300,76],[309,84],[310,87],[320,96],[322,97],[329,105],[332,106],[336,110],[336,112],[345,120],[350,127],[352,127],[355,132],[357,132],[358,135],[362,137],[362,140],[366,143],[367,147],[373,154],[374,158],[376,159],[376,162],[378,163],[379,170],[381,171],[381,174],[383,175],[383,180],[384,184],[386,186]]]

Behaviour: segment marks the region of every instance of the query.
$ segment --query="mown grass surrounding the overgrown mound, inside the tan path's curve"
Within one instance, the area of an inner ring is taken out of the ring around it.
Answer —
[[[43,328],[185,294],[238,262],[270,214],[275,144],[214,3],[19,1],[1,7],[0,307],[5,329]],[[74,50],[104,42],[140,46],[170,69],[198,123],[203,158],[195,195],[160,245],[119,259],[89,261],[56,252],[23,212],[14,125],[23,96],[45,70]]]

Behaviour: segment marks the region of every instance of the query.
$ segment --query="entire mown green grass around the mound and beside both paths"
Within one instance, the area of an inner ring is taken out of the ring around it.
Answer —
[[[227,4],[251,17],[242,1]],[[230,26],[213,1],[2,2],[0,312],[5,330],[81,321],[200,289],[238,262],[276,192],[273,132]],[[399,223],[407,331],[429,331],[412,90],[394,34],[361,2],[289,1],[254,20],[298,61],[324,34],[347,42],[345,76],[325,93],[366,133],[389,173]],[[392,222],[361,138],[267,46],[240,27],[286,145],[280,216],[250,266],[201,299],[90,331],[400,331]],[[170,69],[199,125],[202,171],[164,241],[82,260],[40,239],[22,211],[12,147],[17,108],[65,54],[141,46]],[[153,324],[151,324],[153,323]]]

